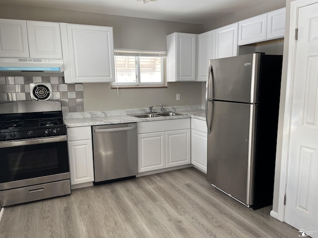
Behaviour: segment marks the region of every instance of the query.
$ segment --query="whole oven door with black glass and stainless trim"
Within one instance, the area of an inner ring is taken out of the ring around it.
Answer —
[[[66,135],[1,142],[0,155],[0,190],[70,178]]]

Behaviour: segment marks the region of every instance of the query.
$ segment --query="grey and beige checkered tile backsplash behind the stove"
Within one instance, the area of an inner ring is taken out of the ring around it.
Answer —
[[[62,112],[83,112],[84,96],[81,83],[66,84],[64,77],[52,76],[5,76],[0,77],[0,103],[31,101],[30,83],[51,83],[53,97],[61,101]]]

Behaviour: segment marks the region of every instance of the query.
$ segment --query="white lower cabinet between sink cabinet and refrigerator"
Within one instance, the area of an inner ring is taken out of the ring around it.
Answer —
[[[191,119],[191,164],[207,173],[207,127],[204,120]]]

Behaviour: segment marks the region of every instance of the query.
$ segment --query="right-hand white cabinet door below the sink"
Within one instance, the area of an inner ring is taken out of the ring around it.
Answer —
[[[190,164],[190,129],[165,132],[165,167]]]

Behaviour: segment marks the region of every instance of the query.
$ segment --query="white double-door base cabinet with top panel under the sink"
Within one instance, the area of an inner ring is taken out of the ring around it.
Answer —
[[[138,122],[138,173],[191,163],[190,119]]]

